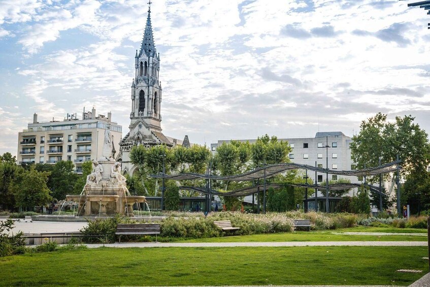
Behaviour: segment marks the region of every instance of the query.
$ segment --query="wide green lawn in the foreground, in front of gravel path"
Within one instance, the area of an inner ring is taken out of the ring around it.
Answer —
[[[96,248],[2,258],[0,284],[409,285],[425,274],[424,256],[426,247]]]

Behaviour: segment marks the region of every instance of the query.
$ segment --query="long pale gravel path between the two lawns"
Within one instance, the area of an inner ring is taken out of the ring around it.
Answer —
[[[424,241],[319,241],[319,242],[215,242],[215,243],[155,243],[125,242],[87,244],[89,248],[106,247],[295,247],[295,246],[427,246]]]

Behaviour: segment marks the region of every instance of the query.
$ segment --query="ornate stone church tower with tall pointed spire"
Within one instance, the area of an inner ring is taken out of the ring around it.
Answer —
[[[131,82],[131,113],[129,132],[120,141],[117,161],[122,162],[122,171],[133,173],[129,153],[136,145],[151,147],[164,144],[168,148],[177,140],[161,133],[162,89],[159,81],[160,55],[155,49],[151,25],[151,2],[140,50],[136,50],[135,78]]]

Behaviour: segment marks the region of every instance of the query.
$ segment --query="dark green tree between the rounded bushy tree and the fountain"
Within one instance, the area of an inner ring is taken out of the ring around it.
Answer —
[[[73,193],[78,180],[74,170],[75,166],[71,161],[59,161],[54,165],[48,182],[53,198],[63,200],[66,195]]]

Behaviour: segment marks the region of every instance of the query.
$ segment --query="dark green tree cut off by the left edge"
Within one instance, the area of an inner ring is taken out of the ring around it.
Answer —
[[[15,197],[11,186],[22,167],[15,164],[16,158],[9,152],[0,155],[0,210],[12,210],[15,207]]]

